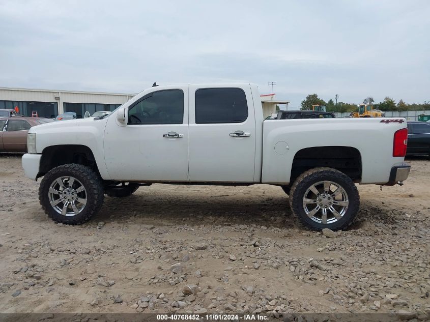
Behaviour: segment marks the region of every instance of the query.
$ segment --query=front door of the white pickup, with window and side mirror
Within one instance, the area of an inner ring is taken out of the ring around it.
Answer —
[[[188,181],[188,85],[154,87],[128,108],[128,123],[109,116],[107,171],[121,181]]]

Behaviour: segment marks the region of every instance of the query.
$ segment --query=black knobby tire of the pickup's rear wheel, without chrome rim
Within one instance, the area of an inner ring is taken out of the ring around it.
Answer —
[[[341,219],[330,224],[313,221],[306,215],[303,209],[303,196],[306,190],[311,185],[324,180],[329,180],[340,185],[347,192],[349,199],[349,206],[346,213]],[[345,173],[328,167],[313,168],[300,174],[291,187],[290,207],[300,222],[312,230],[322,230],[323,228],[344,230],[351,225],[358,213],[360,196],[354,182]]]

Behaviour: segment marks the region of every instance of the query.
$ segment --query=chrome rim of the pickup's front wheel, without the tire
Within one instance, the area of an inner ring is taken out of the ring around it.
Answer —
[[[76,216],[87,204],[87,190],[76,178],[60,177],[49,186],[48,198],[59,214]]]

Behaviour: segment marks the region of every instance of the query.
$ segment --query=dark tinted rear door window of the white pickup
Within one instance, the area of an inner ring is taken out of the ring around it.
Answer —
[[[242,89],[216,88],[195,91],[195,123],[242,123],[248,104]]]

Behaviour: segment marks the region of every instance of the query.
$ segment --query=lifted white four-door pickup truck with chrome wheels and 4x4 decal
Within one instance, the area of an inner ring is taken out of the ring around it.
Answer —
[[[405,119],[263,121],[250,83],[153,86],[101,118],[31,128],[22,166],[43,176],[40,203],[61,223],[152,183],[271,184],[308,227],[344,229],[359,208],[355,183],[408,178],[407,134]]]

